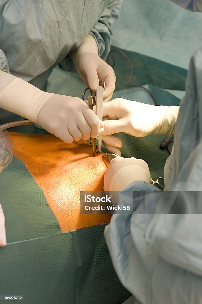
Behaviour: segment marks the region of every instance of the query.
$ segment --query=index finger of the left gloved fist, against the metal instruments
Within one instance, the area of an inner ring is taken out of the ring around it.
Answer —
[[[82,113],[87,123],[91,127],[91,137],[97,137],[98,133],[100,132],[100,127],[103,126],[103,122],[90,108],[83,110]]]

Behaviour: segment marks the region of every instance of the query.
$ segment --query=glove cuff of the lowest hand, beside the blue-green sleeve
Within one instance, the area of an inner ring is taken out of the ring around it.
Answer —
[[[122,191],[133,181],[147,181],[150,183],[150,172],[138,165],[125,166],[118,170],[112,177],[109,191]]]

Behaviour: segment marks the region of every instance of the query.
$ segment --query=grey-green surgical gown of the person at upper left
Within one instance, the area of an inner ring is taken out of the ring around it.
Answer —
[[[0,69],[43,89],[90,33],[106,59],[122,0],[0,0]],[[5,111],[0,111],[0,123]],[[4,112],[4,113],[3,113]]]

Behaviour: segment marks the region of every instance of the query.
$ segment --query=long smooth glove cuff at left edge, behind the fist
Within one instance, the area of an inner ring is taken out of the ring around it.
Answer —
[[[41,91],[27,81],[6,72],[0,73],[0,107],[36,123],[38,112],[53,93]]]

